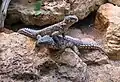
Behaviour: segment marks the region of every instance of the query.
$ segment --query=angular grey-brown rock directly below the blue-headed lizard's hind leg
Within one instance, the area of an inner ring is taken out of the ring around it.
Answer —
[[[52,55],[51,58],[61,64],[59,73],[62,77],[70,78],[72,82],[88,82],[87,65],[75,52],[67,48],[61,55],[60,53],[55,55]]]

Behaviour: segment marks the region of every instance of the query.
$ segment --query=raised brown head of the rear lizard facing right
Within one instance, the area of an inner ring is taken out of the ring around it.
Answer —
[[[78,22],[78,17],[76,15],[65,16],[64,22],[67,24],[74,24],[74,23]]]

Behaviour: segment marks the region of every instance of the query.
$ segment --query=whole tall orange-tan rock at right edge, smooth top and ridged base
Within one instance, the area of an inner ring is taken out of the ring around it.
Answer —
[[[105,50],[111,59],[120,59],[120,7],[102,5],[96,16],[96,29],[105,31]]]

